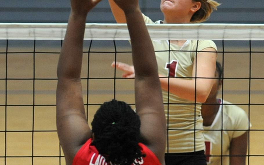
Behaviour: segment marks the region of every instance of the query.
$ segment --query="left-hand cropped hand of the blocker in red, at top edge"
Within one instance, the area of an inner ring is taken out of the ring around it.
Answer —
[[[71,12],[74,15],[87,15],[101,0],[70,0]]]

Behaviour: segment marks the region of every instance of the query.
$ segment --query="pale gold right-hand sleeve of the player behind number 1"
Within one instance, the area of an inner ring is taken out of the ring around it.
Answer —
[[[234,118],[232,117],[234,120],[234,125],[232,128],[234,130],[234,133],[232,139],[236,137],[240,137],[246,132],[245,130],[248,130],[249,127],[251,127],[251,123],[248,124],[249,121],[246,112],[240,107],[236,107],[236,108],[237,110],[234,111],[233,114],[233,116],[235,117]]]

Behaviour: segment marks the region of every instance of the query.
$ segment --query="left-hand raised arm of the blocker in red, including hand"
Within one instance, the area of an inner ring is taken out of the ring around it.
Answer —
[[[56,123],[66,164],[92,137],[85,117],[81,85],[83,38],[86,16],[100,0],[71,0],[68,27],[57,67]]]

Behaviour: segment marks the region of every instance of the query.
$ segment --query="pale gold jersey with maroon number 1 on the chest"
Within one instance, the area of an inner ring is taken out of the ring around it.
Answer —
[[[154,24],[149,17],[145,15],[143,17],[146,24]],[[160,22],[156,21],[155,23],[159,24]],[[202,51],[209,47],[217,50],[216,44],[211,40],[187,40],[183,46],[169,44],[167,40],[153,40],[152,42],[159,74],[170,75],[171,78],[191,79],[196,51]],[[198,50],[196,50],[197,43]],[[169,93],[168,96],[167,91],[162,91],[162,93],[166,117],[169,114],[169,153],[205,150],[204,137],[201,131],[203,129],[201,105],[196,105],[193,101],[180,98],[175,94]]]

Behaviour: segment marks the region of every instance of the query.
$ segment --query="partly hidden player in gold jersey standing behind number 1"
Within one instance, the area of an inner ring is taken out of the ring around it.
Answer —
[[[248,132],[246,130],[249,129],[247,114],[240,107],[217,98],[218,90],[221,89],[222,85],[220,79],[222,67],[219,62],[216,62],[215,77],[219,79],[214,80],[211,93],[201,110],[205,129],[205,154],[211,155],[211,157],[207,156],[207,164],[221,165],[221,155],[232,155],[231,157],[223,157],[224,165],[245,165],[246,157],[243,155],[247,154]],[[221,105],[222,103],[224,105]],[[222,123],[223,132],[219,131],[222,129]],[[222,149],[223,152],[221,152]],[[235,155],[239,156],[236,157]]]

